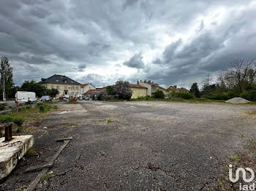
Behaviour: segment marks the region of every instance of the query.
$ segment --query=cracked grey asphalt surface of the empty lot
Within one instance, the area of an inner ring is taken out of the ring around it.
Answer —
[[[18,163],[0,190],[28,187],[72,136],[37,190],[216,190],[231,157],[255,139],[253,105],[162,101],[61,104],[34,133],[37,155]],[[107,119],[113,122],[107,122]],[[45,127],[45,128],[44,128]]]

